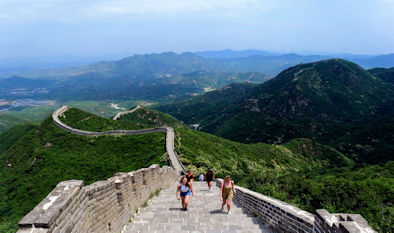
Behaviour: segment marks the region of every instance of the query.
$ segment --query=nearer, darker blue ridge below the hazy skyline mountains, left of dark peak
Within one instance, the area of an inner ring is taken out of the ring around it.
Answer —
[[[130,75],[105,76],[83,73],[62,80],[47,81],[20,78],[17,83],[0,86],[0,98],[69,100],[163,100],[184,95],[196,95],[224,87],[234,82],[263,83],[270,77],[257,72],[194,71],[141,77]],[[10,78],[14,79],[14,78]],[[27,82],[25,82],[27,80]],[[1,84],[1,83],[0,83]],[[47,84],[47,85],[45,85]],[[39,85],[39,86],[37,86]]]

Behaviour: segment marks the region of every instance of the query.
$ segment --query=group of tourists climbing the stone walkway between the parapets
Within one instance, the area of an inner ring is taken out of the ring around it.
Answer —
[[[201,173],[199,176],[200,181],[206,181],[208,189],[211,190],[212,181],[215,180],[215,176],[211,170],[209,170],[205,176]],[[190,196],[194,195],[193,191],[193,181],[194,174],[191,170],[188,170],[185,176],[182,177],[177,190],[176,196],[178,200],[182,200],[182,210],[187,211],[187,206],[189,204]],[[231,179],[231,176],[227,175],[222,184],[220,185],[220,201],[222,202],[222,209],[224,211],[224,206],[227,204],[227,214],[231,214],[231,201],[235,194],[235,184]]]

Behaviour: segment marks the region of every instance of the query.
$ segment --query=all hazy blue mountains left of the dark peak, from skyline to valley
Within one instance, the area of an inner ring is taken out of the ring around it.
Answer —
[[[246,57],[206,59],[193,53],[167,52],[73,68],[37,70],[25,73],[35,80],[27,76],[0,79],[0,99],[171,99],[202,94],[234,82],[263,83],[270,79],[269,75],[291,66],[326,59],[318,55],[269,55],[255,50],[224,52]]]

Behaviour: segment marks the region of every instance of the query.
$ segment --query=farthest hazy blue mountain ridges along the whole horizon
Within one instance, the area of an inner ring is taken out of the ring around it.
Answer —
[[[252,57],[252,58],[251,58]],[[109,59],[113,59],[110,56]],[[101,61],[90,65],[74,66],[52,69],[23,68],[19,72],[13,70],[11,75],[23,77],[67,77],[81,75],[89,72],[112,76],[116,74],[181,74],[197,70],[206,71],[244,71],[262,72],[271,76],[299,63],[314,62],[328,58],[343,58],[361,65],[365,69],[375,67],[394,67],[394,53],[386,55],[355,55],[355,54],[330,54],[300,55],[295,53],[276,53],[257,49],[247,50],[212,50],[201,52],[173,52],[133,55],[115,61]],[[221,61],[220,61],[221,60]],[[49,66],[50,67],[50,66]],[[145,68],[144,68],[145,67]],[[6,77],[7,69],[1,72]],[[12,70],[12,69],[11,69]]]

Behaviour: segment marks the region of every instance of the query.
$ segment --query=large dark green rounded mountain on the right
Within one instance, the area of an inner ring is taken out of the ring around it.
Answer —
[[[242,86],[230,99],[239,89],[233,87],[158,109],[236,141],[307,137],[358,161],[393,159],[393,138],[387,133],[394,132],[391,86],[354,63],[332,59],[297,65],[264,84]]]

